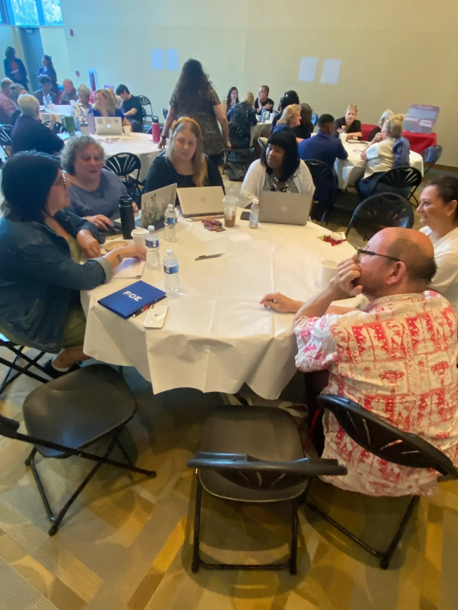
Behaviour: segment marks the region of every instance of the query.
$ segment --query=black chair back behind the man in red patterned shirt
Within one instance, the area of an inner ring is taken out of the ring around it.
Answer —
[[[409,468],[433,468],[458,478],[458,470],[442,451],[412,432],[402,432],[348,398],[322,394],[318,403],[335,415],[355,443],[377,458]]]

